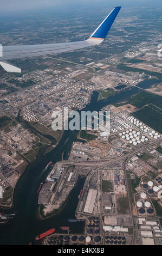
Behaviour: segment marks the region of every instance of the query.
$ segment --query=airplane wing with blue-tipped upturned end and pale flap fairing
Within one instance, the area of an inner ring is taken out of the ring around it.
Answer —
[[[20,68],[6,62],[6,60],[68,52],[93,45],[99,45],[106,38],[120,8],[121,7],[115,7],[105,20],[102,21],[100,26],[95,29],[93,34],[85,41],[63,42],[59,44],[3,46],[3,56],[0,57],[0,65],[7,72],[21,72]]]

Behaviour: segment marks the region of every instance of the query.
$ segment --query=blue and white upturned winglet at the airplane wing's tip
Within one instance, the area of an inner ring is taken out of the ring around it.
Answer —
[[[111,28],[116,16],[118,15],[121,7],[115,7],[111,13],[107,15],[105,20],[102,21],[100,26],[96,28],[93,34],[86,41],[92,45],[99,45],[106,38],[106,35]]]

